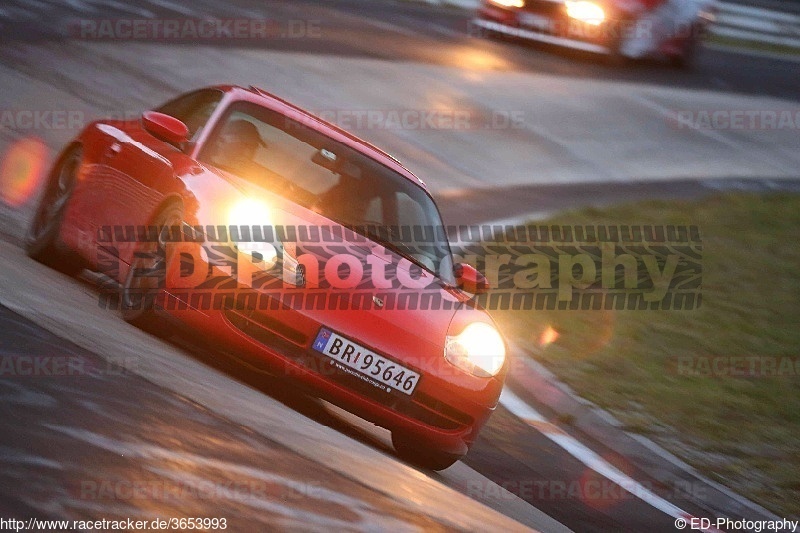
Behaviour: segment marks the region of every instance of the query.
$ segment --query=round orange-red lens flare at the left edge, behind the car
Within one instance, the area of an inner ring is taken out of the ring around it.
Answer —
[[[19,207],[36,192],[44,177],[47,145],[36,137],[16,141],[0,162],[0,200]]]

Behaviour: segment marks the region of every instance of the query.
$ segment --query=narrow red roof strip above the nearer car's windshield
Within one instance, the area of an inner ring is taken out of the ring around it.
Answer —
[[[285,100],[253,85],[248,88],[241,87],[239,85],[216,85],[211,88],[221,90],[228,94],[233,94],[239,100],[246,100],[259,104],[268,109],[272,109],[273,111],[278,111],[289,118],[297,120],[298,122],[301,122],[304,125],[319,131],[320,133],[324,133],[336,141],[350,146],[362,154],[375,159],[384,166],[389,167],[408,180],[416,183],[425,191],[428,191],[428,187],[425,185],[425,182],[417,177],[413,172],[408,170],[405,166],[403,166],[403,164],[400,163],[400,161],[398,161],[394,156],[381,150],[374,144],[361,139],[353,133],[342,129],[335,124],[327,122],[326,120],[312,114],[302,107],[289,102],[288,100]]]

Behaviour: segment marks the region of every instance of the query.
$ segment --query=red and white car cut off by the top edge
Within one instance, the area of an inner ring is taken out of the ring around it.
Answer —
[[[483,0],[473,21],[500,33],[614,58],[690,66],[715,0]]]

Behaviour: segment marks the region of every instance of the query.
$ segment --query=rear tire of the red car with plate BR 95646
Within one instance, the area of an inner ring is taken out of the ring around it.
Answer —
[[[59,236],[82,158],[83,151],[75,146],[55,164],[25,237],[25,251],[29,257],[70,276],[79,273],[84,263],[74,252],[65,249]]]

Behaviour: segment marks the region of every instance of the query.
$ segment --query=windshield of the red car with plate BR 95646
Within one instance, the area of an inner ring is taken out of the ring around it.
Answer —
[[[428,193],[301,122],[249,102],[234,103],[198,159],[349,227],[454,283],[444,227]]]

